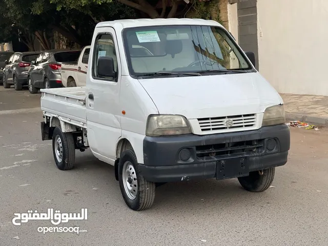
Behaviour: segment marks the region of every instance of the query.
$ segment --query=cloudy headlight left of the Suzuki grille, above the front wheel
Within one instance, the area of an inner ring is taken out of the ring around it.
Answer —
[[[170,136],[190,134],[187,119],[181,115],[150,115],[147,120],[147,136]]]

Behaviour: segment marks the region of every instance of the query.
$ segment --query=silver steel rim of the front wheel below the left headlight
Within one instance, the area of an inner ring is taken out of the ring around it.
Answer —
[[[122,177],[125,193],[131,200],[134,200],[138,193],[138,180],[135,169],[130,161],[124,163]]]

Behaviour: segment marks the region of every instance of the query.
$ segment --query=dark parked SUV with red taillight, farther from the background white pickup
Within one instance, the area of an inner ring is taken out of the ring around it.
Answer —
[[[27,85],[28,68],[31,61],[36,58],[40,52],[15,52],[9,60],[5,60],[3,85],[4,88],[10,88],[14,85],[16,91],[22,90]]]

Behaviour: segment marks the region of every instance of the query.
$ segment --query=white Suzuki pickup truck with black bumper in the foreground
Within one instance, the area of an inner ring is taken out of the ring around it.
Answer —
[[[99,23],[86,87],[41,90],[42,139],[60,170],[87,148],[113,165],[132,210],[150,208],[166,182],[238,178],[265,191],[288,160],[290,130],[254,64],[213,20]]]

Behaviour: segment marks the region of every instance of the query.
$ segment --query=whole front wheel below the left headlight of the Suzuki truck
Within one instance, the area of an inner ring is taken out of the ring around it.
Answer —
[[[129,169],[130,171],[128,171]],[[149,209],[152,206],[155,199],[155,183],[145,180],[133,150],[125,150],[120,155],[118,162],[118,181],[124,201],[130,209],[141,211]],[[131,181],[132,186],[129,184],[129,181]],[[126,187],[129,185],[134,192],[128,192],[128,188]],[[136,190],[133,190],[133,186],[136,187]]]

